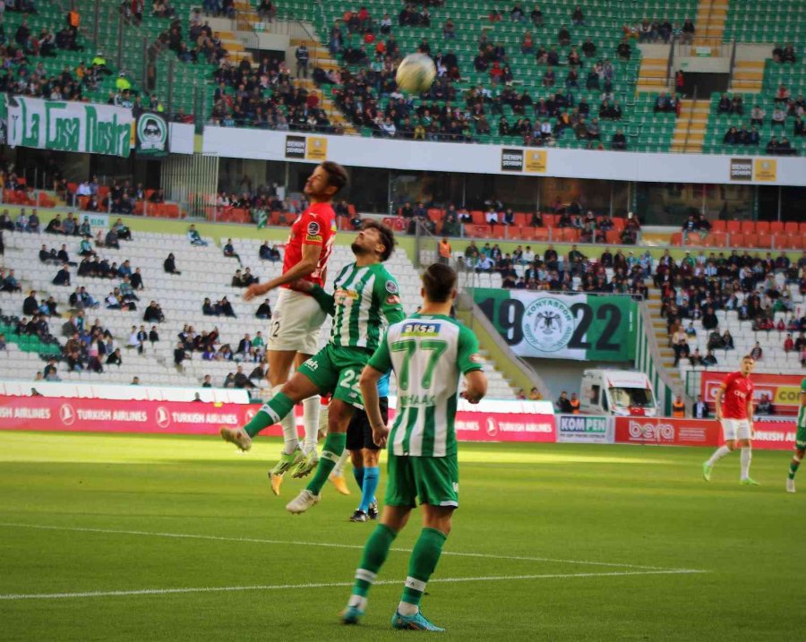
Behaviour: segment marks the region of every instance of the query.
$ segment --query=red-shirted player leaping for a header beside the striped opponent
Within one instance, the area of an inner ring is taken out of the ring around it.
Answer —
[[[281,288],[266,343],[270,398],[288,381],[292,365],[298,367],[317,352],[325,313],[313,296],[292,290],[288,284],[304,279],[318,286],[324,285],[336,236],[336,214],[332,201],[347,180],[347,170],[330,160],[313,170],[304,187],[311,205],[291,226],[282,274],[265,283],[253,284],[244,293],[244,299],[251,301],[276,287]],[[319,430],[319,397],[305,399],[303,408],[305,440],[302,449],[296,433],[294,413],[289,413],[280,423],[285,443],[278,465],[270,472],[271,490],[276,495],[279,495],[283,475],[288,470],[294,468],[293,475],[302,477],[318,463],[316,437]]]

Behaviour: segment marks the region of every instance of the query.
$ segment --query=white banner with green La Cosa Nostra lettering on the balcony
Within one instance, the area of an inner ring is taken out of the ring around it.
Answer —
[[[22,96],[4,96],[4,101],[11,147],[129,156],[131,109]]]

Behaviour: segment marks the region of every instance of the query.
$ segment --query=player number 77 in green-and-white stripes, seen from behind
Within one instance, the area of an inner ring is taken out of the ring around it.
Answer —
[[[373,439],[379,446],[389,443],[389,484],[381,523],[364,546],[353,594],[342,612],[347,624],[355,624],[364,615],[370,586],[419,500],[424,527],[409,558],[408,577],[392,627],[443,630],[425,619],[420,598],[450,533],[453,510],[459,506],[454,429],[459,378],[465,375],[467,388],[461,396],[471,403],[484,397],[487,381],[481,372],[476,336],[449,316],[456,297],[456,273],[435,263],[425,270],[423,286],[420,312],[390,326],[361,374]],[[391,432],[377,403],[378,380],[390,367],[398,377],[398,406]]]

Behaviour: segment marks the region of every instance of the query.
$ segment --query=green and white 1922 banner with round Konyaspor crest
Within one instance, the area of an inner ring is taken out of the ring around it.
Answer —
[[[476,288],[476,304],[519,356],[630,361],[636,303],[629,296]]]

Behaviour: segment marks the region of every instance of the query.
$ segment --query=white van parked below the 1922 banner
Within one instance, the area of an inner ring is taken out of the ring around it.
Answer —
[[[582,373],[579,410],[588,415],[657,416],[649,377],[631,370],[586,370]]]

